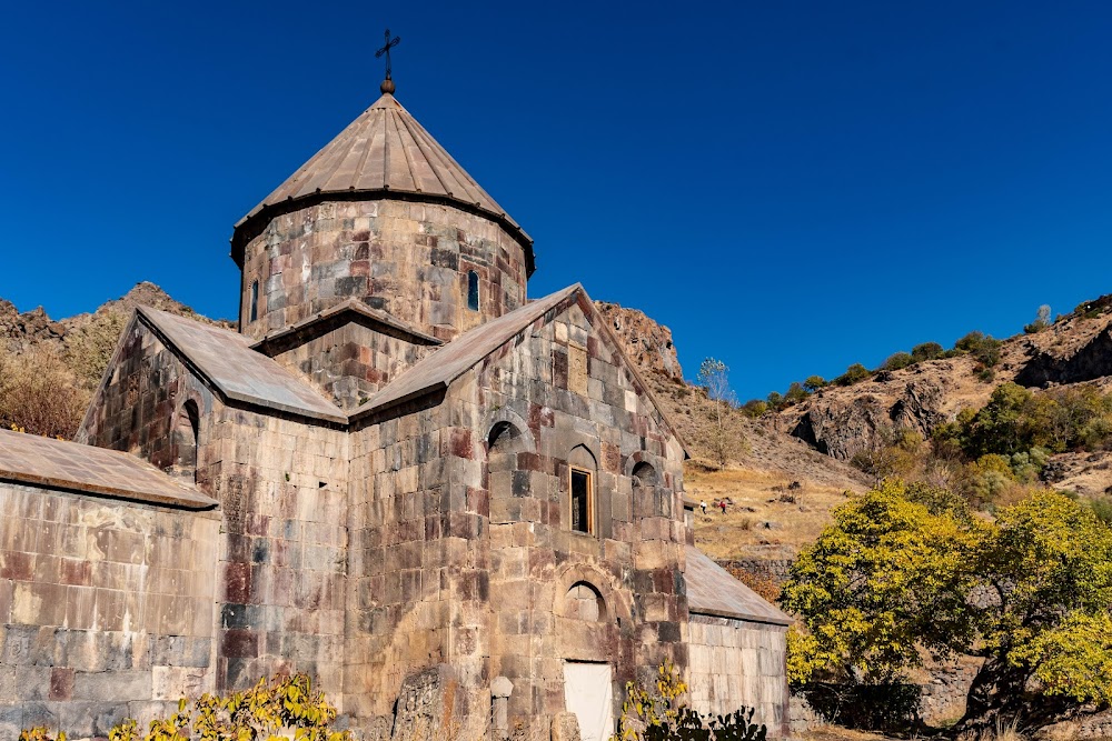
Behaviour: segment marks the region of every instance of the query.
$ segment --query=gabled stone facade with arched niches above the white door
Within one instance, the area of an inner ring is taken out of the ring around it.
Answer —
[[[453,387],[447,447],[453,500],[489,528],[490,563],[486,630],[453,662],[489,657],[486,675],[514,684],[510,725],[542,735],[565,711],[566,661],[612,663],[615,717],[627,681],[687,663],[683,451],[580,294],[546,320]],[[496,424],[519,433],[508,478],[484,465]],[[593,469],[590,533],[572,530],[572,463]]]

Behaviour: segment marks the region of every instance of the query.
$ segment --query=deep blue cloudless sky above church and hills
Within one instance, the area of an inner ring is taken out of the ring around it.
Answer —
[[[1112,3],[16,3],[0,297],[236,312],[231,226],[378,96],[742,399],[1112,292]]]

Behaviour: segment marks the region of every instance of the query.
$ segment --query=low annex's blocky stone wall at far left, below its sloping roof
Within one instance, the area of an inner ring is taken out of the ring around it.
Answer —
[[[219,518],[0,482],[0,738],[215,688]]]

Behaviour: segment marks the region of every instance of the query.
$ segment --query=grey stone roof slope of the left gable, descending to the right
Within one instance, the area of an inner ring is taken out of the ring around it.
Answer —
[[[227,399],[311,419],[346,423],[347,415],[307,382],[261,352],[251,339],[192,319],[140,307],[140,319]]]

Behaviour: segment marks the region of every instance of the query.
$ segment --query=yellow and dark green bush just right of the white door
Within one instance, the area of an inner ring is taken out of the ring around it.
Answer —
[[[753,723],[752,708],[703,715],[687,705],[687,684],[665,661],[654,687],[629,682],[618,732],[610,741],[764,741],[767,729]]]

